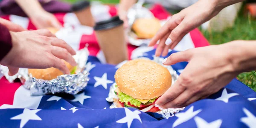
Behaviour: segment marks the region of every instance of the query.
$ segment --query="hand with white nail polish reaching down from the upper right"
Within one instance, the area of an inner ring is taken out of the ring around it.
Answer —
[[[173,15],[148,44],[154,46],[160,41],[155,55],[166,56],[168,49],[173,49],[188,32],[217,15],[221,9],[216,9],[213,1],[200,0]]]

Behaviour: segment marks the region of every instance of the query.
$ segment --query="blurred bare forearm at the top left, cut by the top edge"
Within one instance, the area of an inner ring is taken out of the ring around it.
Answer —
[[[15,0],[20,8],[29,16],[37,15],[39,12],[44,11],[38,0]]]

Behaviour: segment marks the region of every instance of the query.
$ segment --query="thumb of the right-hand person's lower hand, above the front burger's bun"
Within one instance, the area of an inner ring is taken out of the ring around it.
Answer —
[[[172,53],[168,58],[163,60],[164,65],[173,65],[179,62],[189,61],[191,54],[188,50],[183,52]]]

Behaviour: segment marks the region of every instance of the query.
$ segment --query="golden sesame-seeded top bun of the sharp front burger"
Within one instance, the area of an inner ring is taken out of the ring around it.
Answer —
[[[125,63],[115,74],[119,90],[135,99],[154,99],[172,85],[172,76],[154,61],[136,59]]]

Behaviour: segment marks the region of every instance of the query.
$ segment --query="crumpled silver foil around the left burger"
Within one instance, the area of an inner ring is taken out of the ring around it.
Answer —
[[[54,94],[54,93],[68,93],[75,95],[87,86],[89,81],[89,73],[85,70],[85,65],[89,56],[87,47],[76,52],[73,56],[77,62],[76,74],[61,75],[56,79],[43,80],[36,79],[29,74],[28,69],[20,68],[15,76],[8,75],[8,67],[0,65],[0,72],[6,77],[9,82],[15,79],[20,79],[23,86],[30,90],[32,96]]]

